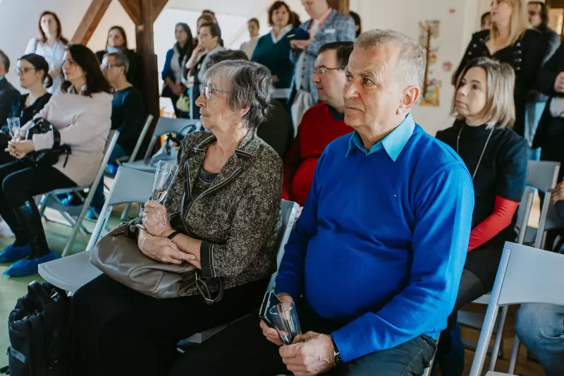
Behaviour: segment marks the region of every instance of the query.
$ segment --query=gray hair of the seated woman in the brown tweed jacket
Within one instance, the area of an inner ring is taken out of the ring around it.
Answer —
[[[218,86],[218,83],[225,83]],[[266,120],[274,95],[272,73],[254,61],[221,61],[204,73],[204,85],[216,90],[228,90],[227,102],[233,111],[249,107],[243,125],[255,130]]]

